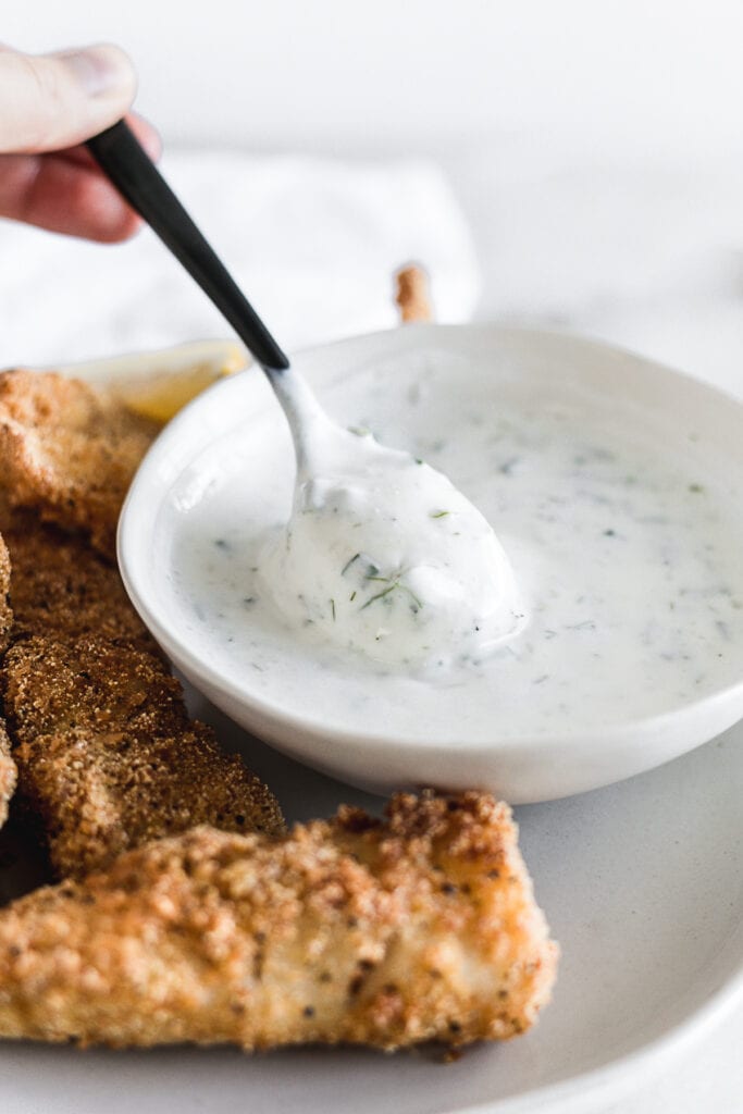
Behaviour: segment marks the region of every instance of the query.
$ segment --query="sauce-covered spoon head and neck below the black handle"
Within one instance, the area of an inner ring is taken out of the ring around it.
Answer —
[[[420,457],[317,413],[302,380],[282,375],[301,411],[289,522],[258,560],[261,595],[317,643],[390,667],[482,656],[525,622],[492,527]]]

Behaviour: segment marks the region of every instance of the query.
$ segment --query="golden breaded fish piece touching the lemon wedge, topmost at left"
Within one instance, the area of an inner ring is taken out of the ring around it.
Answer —
[[[11,501],[84,530],[108,556],[124,496],[157,431],[79,380],[0,374],[0,475]]]

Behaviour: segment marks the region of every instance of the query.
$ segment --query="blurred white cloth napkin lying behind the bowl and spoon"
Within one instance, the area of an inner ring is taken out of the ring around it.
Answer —
[[[436,165],[175,152],[163,172],[290,351],[393,326],[392,274],[411,261],[438,320],[473,310],[475,251]],[[149,229],[101,246],[0,222],[0,367],[225,335]]]

